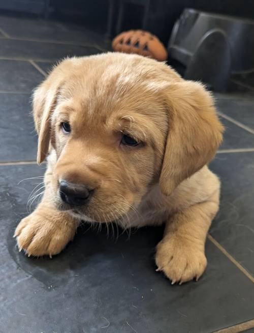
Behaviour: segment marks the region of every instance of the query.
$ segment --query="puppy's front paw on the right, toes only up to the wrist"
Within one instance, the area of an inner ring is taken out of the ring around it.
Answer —
[[[158,243],[155,261],[157,270],[163,271],[172,285],[197,281],[207,265],[202,246],[175,236]]]

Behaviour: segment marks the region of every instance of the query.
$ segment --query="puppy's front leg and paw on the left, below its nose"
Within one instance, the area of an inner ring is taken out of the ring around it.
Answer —
[[[50,172],[45,175],[46,190],[36,210],[23,218],[15,230],[19,249],[28,256],[56,255],[73,239],[78,220],[58,211],[49,195]]]

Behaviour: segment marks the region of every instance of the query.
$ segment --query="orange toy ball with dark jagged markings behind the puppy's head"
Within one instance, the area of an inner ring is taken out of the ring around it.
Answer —
[[[154,35],[143,30],[130,30],[116,36],[112,48],[117,52],[137,53],[158,61],[168,59],[163,43]]]

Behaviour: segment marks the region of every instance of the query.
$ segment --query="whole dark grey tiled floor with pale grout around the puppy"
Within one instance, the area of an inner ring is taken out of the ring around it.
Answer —
[[[227,128],[211,163],[221,207],[199,282],[171,286],[155,272],[161,228],[117,241],[80,229],[52,260],[18,252],[13,231],[45,169],[35,163],[31,91],[60,58],[106,47],[82,27],[0,17],[0,333],[254,332],[254,97],[217,97]]]

